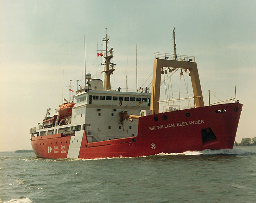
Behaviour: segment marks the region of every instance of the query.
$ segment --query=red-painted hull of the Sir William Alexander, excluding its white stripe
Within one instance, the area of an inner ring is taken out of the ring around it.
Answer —
[[[139,118],[138,135],[130,138],[88,143],[84,132],[78,158],[232,149],[242,106],[237,103],[221,104],[142,116]],[[72,150],[69,149],[71,138],[75,137],[62,134],[33,137],[31,144],[38,157],[67,158],[68,151]]]

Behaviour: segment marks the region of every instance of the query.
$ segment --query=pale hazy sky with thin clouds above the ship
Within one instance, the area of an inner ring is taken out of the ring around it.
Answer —
[[[117,64],[112,87],[125,88],[127,75],[136,91],[136,44],[140,87],[154,53],[173,53],[174,27],[176,53],[196,57],[205,105],[208,90],[225,100],[236,85],[243,104],[236,141],[255,137],[255,8],[254,0],[1,0],[0,151],[31,149],[30,128],[48,108],[55,113],[62,92],[68,99],[70,80],[75,90],[77,80],[84,84],[84,39],[86,73],[103,80],[97,48],[107,31]]]

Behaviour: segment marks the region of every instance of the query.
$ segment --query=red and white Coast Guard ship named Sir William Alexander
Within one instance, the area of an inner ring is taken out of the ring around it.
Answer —
[[[42,124],[30,129],[36,156],[97,159],[232,149],[243,105],[236,98],[204,105],[195,57],[176,54],[173,33],[174,54],[155,53],[151,91],[146,87],[134,92],[111,88],[116,64],[110,62],[113,48],[108,50],[106,35],[104,50],[98,53],[104,57],[104,82],[85,74],[85,86],[77,88],[74,100],[64,99],[53,116],[47,109]],[[193,97],[188,99],[194,106],[168,106],[161,112],[161,76],[177,70],[191,79]]]

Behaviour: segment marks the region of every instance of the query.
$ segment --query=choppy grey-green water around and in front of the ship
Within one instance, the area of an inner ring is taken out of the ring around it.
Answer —
[[[149,157],[0,152],[0,202],[256,202],[256,147]]]

